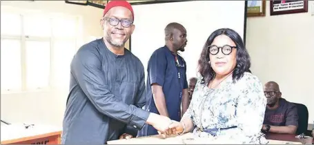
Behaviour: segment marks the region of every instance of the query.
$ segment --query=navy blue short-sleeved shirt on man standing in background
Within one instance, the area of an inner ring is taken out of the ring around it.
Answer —
[[[156,83],[162,86],[170,119],[179,122],[181,119],[182,90],[188,88],[188,82],[186,79],[186,62],[181,56],[177,55],[179,61],[177,63],[175,56],[167,46],[164,46],[155,50],[150,57],[147,68],[145,109],[151,113],[159,114],[151,90],[151,85]],[[157,131],[149,131],[152,128],[152,126],[148,126],[148,135],[157,134]]]

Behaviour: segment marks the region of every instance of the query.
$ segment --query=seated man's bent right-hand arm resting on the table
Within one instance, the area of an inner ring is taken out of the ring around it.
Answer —
[[[295,131],[297,131],[298,120],[299,116],[297,115],[297,107],[291,105],[288,108],[286,126],[271,126],[269,132],[295,134]],[[263,126],[263,129],[266,129],[265,125]]]

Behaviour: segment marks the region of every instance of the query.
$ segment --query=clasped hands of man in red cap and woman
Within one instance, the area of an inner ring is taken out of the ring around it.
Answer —
[[[185,131],[183,123],[155,113],[150,113],[146,123],[153,126],[158,133],[162,135],[180,135]],[[132,135],[124,133],[119,137],[119,139],[130,139],[132,137]]]

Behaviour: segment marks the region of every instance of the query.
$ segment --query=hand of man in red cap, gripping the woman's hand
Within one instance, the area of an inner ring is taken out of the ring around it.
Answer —
[[[172,131],[169,129],[169,125],[172,123],[168,117],[150,113],[147,119],[147,123],[153,126],[161,134],[171,135]]]

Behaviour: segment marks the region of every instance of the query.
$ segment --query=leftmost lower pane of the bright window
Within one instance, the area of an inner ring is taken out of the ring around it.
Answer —
[[[1,90],[21,90],[21,42],[1,39]]]

